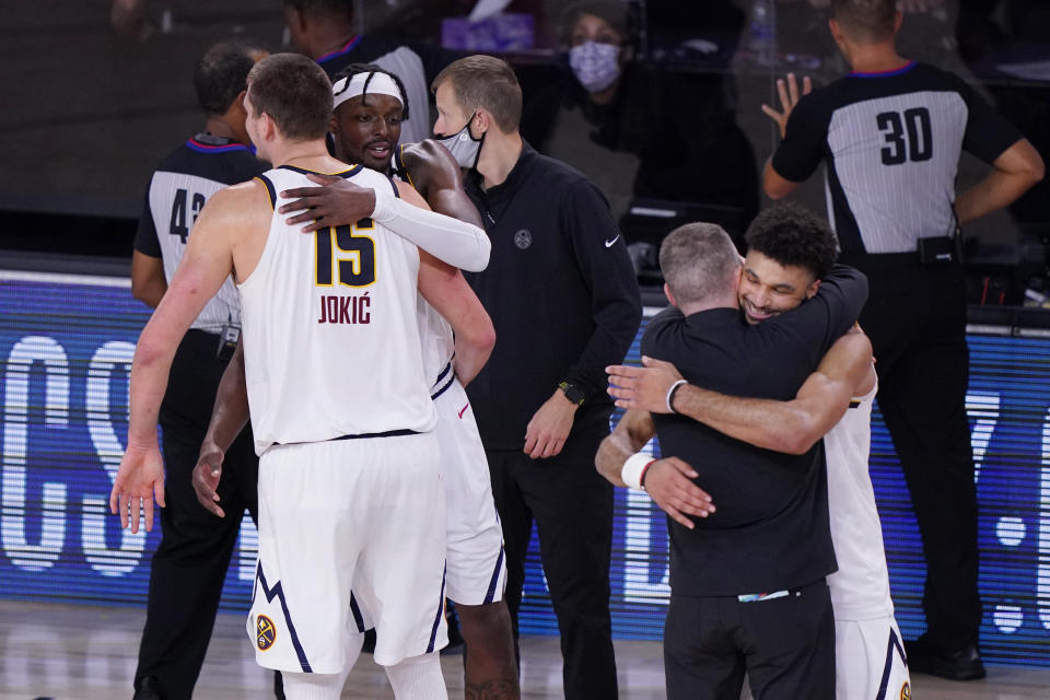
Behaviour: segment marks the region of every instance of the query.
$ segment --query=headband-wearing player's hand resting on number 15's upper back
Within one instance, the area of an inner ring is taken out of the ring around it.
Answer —
[[[295,201],[277,210],[279,214],[299,212],[285,223],[306,224],[303,226],[303,233],[328,226],[354,224],[362,219],[368,219],[375,211],[375,190],[371,187],[361,187],[345,177],[334,175],[311,173],[306,177],[320,187],[295,187],[283,190],[281,197]]]

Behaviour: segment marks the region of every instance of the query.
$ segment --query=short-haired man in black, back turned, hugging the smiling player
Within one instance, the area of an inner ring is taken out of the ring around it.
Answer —
[[[755,225],[769,219],[765,212]],[[740,262],[728,235],[688,224],[661,247],[667,295],[642,352],[691,384],[790,399],[867,295],[837,266],[796,310],[755,326],[740,317]],[[680,310],[680,313],[679,313]],[[835,623],[825,576],[836,567],[822,443],[789,455],[733,440],[676,415],[653,416],[661,452],[688,463],[718,510],[693,528],[668,521],[668,698],[739,697],[744,670],[769,697],[835,697]],[[735,695],[734,695],[735,693]]]

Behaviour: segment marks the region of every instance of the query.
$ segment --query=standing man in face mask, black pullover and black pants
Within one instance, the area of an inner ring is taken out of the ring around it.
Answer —
[[[591,465],[612,409],[604,368],[623,358],[641,318],[631,261],[600,190],[522,139],[505,61],[459,59],[432,90],[434,131],[470,168],[467,195],[492,243],[489,267],[467,281],[500,340],[467,393],[503,525],[508,606],[516,631],[535,520],[565,697],[615,698],[612,487]]]

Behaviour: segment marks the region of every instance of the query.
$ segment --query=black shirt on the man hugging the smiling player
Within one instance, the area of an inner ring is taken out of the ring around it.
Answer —
[[[854,323],[863,275],[837,266],[815,298],[756,326],[736,308],[661,313],[642,352],[691,384],[789,400]],[[731,596],[801,586],[837,569],[828,525],[824,445],[804,455],[755,447],[681,416],[654,416],[661,452],[692,465],[718,510],[689,530],[668,518],[675,595]]]

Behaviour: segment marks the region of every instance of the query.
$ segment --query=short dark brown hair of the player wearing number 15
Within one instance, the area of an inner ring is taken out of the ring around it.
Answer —
[[[331,121],[331,83],[325,71],[300,54],[275,54],[248,73],[252,107],[270,115],[292,140],[320,139]]]

